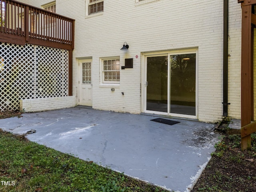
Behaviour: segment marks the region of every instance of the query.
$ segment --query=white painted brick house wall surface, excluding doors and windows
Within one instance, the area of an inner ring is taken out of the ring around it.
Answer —
[[[40,6],[37,0],[23,2]],[[228,112],[232,118],[240,118],[241,8],[237,0],[229,0],[229,3],[228,102],[231,105]],[[206,122],[222,119],[222,1],[158,0],[138,5],[135,0],[105,0],[103,14],[88,17],[84,0],[75,0],[68,6],[67,1],[56,0],[56,10],[76,20],[74,96],[77,96],[77,58],[92,58],[93,108],[143,112],[140,97],[142,53],[196,48],[198,119]],[[130,46],[126,52],[120,50],[123,42]],[[121,66],[125,58],[134,58],[134,68],[121,70],[120,86],[115,92],[111,92],[111,87],[100,86],[100,58],[112,56],[120,57]]]

